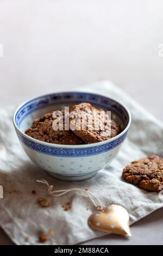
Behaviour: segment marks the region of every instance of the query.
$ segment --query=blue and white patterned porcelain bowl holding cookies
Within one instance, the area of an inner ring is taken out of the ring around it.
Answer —
[[[111,111],[122,132],[107,141],[83,145],[58,145],[38,141],[24,133],[41,115],[74,103],[90,102]],[[14,113],[14,126],[23,149],[37,166],[54,178],[66,181],[88,179],[115,159],[131,123],[126,107],[108,97],[81,92],[53,93],[24,102]]]

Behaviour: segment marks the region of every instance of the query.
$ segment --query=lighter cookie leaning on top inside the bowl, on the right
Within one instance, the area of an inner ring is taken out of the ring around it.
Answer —
[[[93,107],[90,103],[82,102],[79,105],[74,105],[71,111],[70,128],[86,144],[102,142],[120,133],[120,126],[116,121],[111,120],[111,125],[108,125],[106,119],[109,117],[106,112]],[[103,111],[103,115],[101,111]],[[105,121],[103,121],[104,119]],[[88,120],[92,120],[92,123],[90,124]],[[74,127],[76,128],[74,129]]]

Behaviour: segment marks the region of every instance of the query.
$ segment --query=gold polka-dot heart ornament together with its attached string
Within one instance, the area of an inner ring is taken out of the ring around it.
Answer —
[[[62,196],[72,191],[80,191],[87,194],[93,205],[95,205],[96,212],[89,217],[88,223],[91,228],[105,231],[109,233],[115,233],[120,235],[131,236],[129,228],[129,215],[126,209],[120,205],[111,204],[107,205],[104,209],[102,202],[90,191],[84,188],[70,188],[68,190],[53,190],[53,185],[49,185],[46,180],[37,180],[37,182],[47,185],[47,192],[54,197]],[[98,202],[99,206],[96,204]]]

